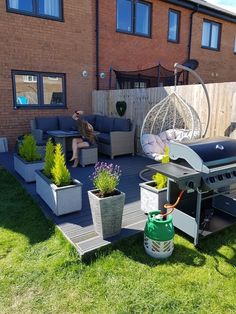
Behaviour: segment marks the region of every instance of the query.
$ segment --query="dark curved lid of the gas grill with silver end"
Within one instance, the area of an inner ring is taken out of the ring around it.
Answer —
[[[195,170],[209,173],[210,168],[236,162],[236,140],[216,137],[187,143],[171,142],[170,158],[184,159]]]

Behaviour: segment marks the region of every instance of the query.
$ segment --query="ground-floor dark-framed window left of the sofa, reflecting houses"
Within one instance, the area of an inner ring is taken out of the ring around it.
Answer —
[[[14,107],[65,107],[65,75],[12,71]]]

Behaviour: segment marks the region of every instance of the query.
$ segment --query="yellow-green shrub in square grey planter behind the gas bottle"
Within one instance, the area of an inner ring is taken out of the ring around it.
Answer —
[[[169,162],[169,151],[165,148],[162,163]],[[152,176],[152,181],[140,183],[141,210],[149,213],[154,210],[162,210],[167,199],[167,177],[156,173]]]

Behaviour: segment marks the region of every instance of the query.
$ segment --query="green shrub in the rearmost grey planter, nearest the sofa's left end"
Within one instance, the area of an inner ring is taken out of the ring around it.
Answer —
[[[19,155],[26,161],[38,161],[42,159],[37,151],[36,141],[33,135],[24,135],[23,142],[19,147]]]

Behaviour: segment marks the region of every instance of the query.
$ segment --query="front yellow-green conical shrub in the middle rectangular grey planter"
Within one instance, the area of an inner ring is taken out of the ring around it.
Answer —
[[[51,169],[52,181],[56,186],[65,186],[71,184],[70,172],[65,164],[65,157],[62,153],[61,144],[57,144],[54,155],[54,165]]]

